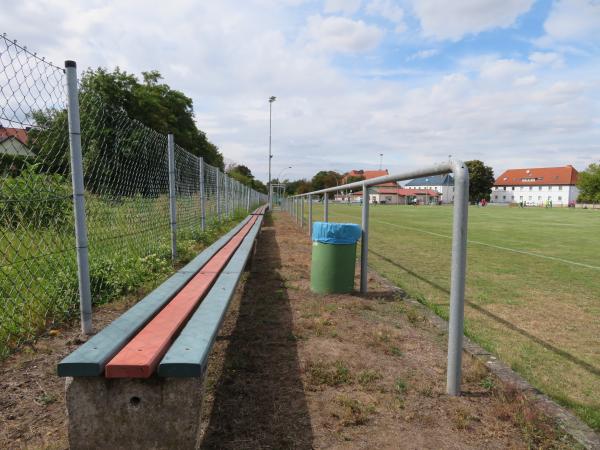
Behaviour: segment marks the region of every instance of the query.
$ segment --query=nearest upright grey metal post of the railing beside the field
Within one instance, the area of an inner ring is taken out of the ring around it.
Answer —
[[[452,272],[450,275],[450,319],[448,325],[448,372],[446,390],[460,395],[462,345],[467,268],[467,216],[469,211],[469,170],[454,162],[454,218],[452,225]]]

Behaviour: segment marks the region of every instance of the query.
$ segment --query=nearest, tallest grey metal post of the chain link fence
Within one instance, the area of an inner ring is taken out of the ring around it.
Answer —
[[[71,182],[73,184],[75,248],[77,251],[81,332],[85,335],[89,335],[93,333],[92,291],[90,288],[88,238],[85,221],[85,191],[83,186],[83,158],[81,154],[79,91],[77,88],[77,64],[75,61],[65,61],[65,71],[67,81],[69,147],[71,150]]]

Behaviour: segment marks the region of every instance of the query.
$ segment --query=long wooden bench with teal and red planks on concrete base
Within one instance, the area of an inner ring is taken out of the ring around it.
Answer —
[[[265,211],[58,364],[67,377],[71,448],[195,448],[208,356]]]

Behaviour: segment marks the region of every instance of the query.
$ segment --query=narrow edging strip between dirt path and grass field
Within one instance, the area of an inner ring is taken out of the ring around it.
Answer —
[[[425,317],[440,331],[448,333],[448,322],[438,316],[434,311],[423,303],[411,298],[408,294],[390,280],[380,275],[378,272],[369,268],[369,276],[376,279],[382,285],[396,292],[402,301],[410,303],[411,306],[418,308]],[[539,389],[533,387],[525,378],[512,370],[506,363],[499,360],[492,353],[485,350],[479,344],[476,344],[467,336],[463,336],[463,351],[484,364],[494,376],[502,383],[513,386],[519,392],[532,398],[536,405],[549,417],[556,420],[557,424],[568,434],[570,434],[579,444],[587,449],[600,449],[600,433],[595,432],[585,422],[583,422],[574,413],[563,406],[560,406]]]

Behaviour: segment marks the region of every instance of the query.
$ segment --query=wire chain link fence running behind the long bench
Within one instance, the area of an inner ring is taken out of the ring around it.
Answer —
[[[79,109],[92,301],[172,270],[167,136],[93,92]],[[65,70],[0,37],[0,358],[77,314]],[[177,254],[265,196],[178,145]]]

